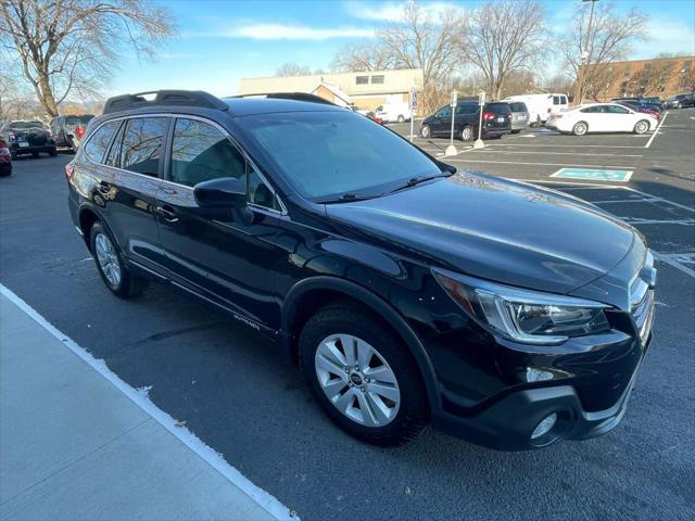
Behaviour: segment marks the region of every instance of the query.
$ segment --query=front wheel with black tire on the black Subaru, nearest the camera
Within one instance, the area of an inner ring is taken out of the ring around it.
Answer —
[[[428,423],[420,373],[407,347],[371,315],[350,304],[320,309],[299,340],[300,365],[329,418],[380,446],[415,439]]]

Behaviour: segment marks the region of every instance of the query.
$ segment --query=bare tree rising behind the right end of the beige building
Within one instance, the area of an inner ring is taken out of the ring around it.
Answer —
[[[333,67],[348,71],[388,68],[422,69],[421,107],[431,111],[448,96],[452,72],[462,64],[457,45],[467,28],[458,9],[446,9],[435,16],[415,2],[403,7],[402,23],[377,31],[375,45],[343,48]]]

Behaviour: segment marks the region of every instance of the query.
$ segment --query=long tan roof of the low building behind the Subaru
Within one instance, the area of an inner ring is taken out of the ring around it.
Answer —
[[[357,76],[367,76],[366,84],[357,84]],[[371,76],[383,76],[382,84],[374,84]],[[319,84],[331,84],[348,96],[390,94],[421,90],[422,69],[369,71],[358,73],[312,74],[308,76],[268,76],[243,78],[238,94],[266,94],[273,92],[313,92]]]

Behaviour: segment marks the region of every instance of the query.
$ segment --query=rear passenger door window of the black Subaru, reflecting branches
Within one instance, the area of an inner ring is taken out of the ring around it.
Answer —
[[[121,147],[121,168],[157,177],[168,117],[138,117],[127,123]]]

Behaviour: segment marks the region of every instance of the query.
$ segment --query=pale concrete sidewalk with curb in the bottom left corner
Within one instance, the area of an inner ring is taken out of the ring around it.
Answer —
[[[0,519],[290,517],[33,313],[0,285]]]

